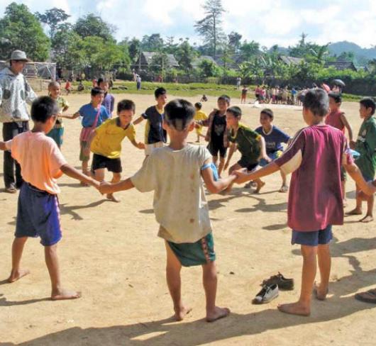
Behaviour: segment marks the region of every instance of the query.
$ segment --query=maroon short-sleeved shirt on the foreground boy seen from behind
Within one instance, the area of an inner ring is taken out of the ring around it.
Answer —
[[[282,172],[292,173],[287,209],[293,230],[323,230],[343,224],[341,164],[353,162],[345,136],[328,125],[299,130],[282,157]]]

